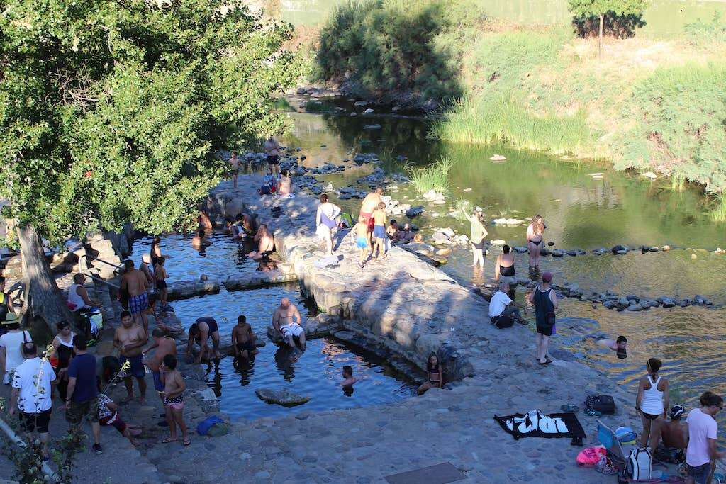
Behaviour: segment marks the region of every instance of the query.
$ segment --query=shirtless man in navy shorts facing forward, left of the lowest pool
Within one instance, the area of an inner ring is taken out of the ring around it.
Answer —
[[[139,271],[136,271],[139,272]],[[141,274],[139,272],[139,274]],[[121,326],[116,328],[113,335],[113,345],[119,349],[121,355],[118,357],[119,363],[123,365],[129,361],[131,368],[126,372],[126,378],[123,383],[126,385],[126,392],[129,395],[122,402],[131,401],[134,398],[134,382],[131,377],[135,377],[139,382],[139,393],[141,394],[139,401],[143,404],[146,401],[146,382],[144,376],[144,362],[142,361],[142,348],[146,344],[146,332],[134,319],[131,319],[129,311],[121,312]]]

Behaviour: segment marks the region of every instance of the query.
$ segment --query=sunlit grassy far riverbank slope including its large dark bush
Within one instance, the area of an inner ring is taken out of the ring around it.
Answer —
[[[430,136],[447,141],[505,139],[726,189],[726,24],[718,18],[669,40],[606,38],[600,58],[595,40],[568,28],[504,25],[476,4],[453,8],[461,4],[339,7],[322,29],[319,77],[433,99],[444,117]],[[427,28],[402,28],[422,18]]]

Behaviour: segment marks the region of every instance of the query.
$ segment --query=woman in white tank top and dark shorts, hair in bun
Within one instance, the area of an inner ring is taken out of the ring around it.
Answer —
[[[648,374],[640,378],[635,399],[635,409],[643,420],[643,433],[640,435],[640,447],[648,446],[650,438],[650,452],[654,454],[661,440],[661,425],[668,409],[668,380],[658,376],[662,363],[658,358],[650,358],[645,368]]]

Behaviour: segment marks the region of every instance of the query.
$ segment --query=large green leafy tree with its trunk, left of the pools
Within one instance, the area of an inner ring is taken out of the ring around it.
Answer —
[[[0,195],[33,316],[68,309],[52,244],[125,222],[191,226],[224,147],[281,131],[272,94],[293,85],[292,27],[240,0],[0,0]]]

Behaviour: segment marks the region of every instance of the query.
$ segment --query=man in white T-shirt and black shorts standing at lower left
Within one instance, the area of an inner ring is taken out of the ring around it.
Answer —
[[[30,435],[38,430],[43,444],[43,460],[50,458],[48,452],[48,425],[52,411],[52,395],[55,372],[50,363],[38,358],[35,343],[23,343],[24,361],[15,369],[10,393],[10,415],[20,410],[20,428]]]

